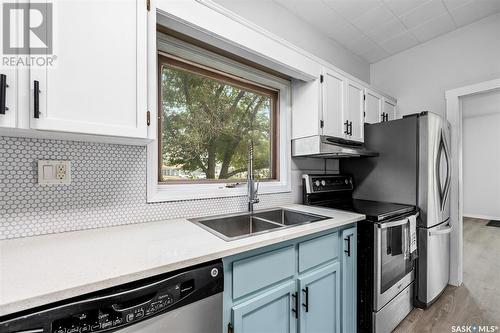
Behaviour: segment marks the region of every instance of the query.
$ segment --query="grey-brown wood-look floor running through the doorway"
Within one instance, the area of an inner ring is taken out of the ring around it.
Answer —
[[[500,228],[487,222],[464,218],[464,283],[448,286],[429,309],[414,309],[393,333],[447,333],[452,325],[500,327]]]

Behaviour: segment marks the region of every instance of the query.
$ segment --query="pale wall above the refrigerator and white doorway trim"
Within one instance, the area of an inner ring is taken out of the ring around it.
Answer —
[[[399,115],[444,115],[445,90],[499,77],[500,14],[371,65],[372,85],[398,99]]]

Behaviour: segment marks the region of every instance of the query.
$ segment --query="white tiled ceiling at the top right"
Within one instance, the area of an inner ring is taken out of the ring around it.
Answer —
[[[500,0],[268,1],[369,63],[500,12]]]

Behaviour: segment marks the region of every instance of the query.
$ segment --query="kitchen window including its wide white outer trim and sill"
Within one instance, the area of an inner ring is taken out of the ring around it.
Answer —
[[[259,193],[289,192],[290,81],[163,33],[157,47],[148,202],[246,195],[250,141]]]

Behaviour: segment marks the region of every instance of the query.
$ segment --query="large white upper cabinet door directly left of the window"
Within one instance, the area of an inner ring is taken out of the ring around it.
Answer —
[[[146,1],[52,3],[57,60],[30,71],[31,128],[146,138]]]

